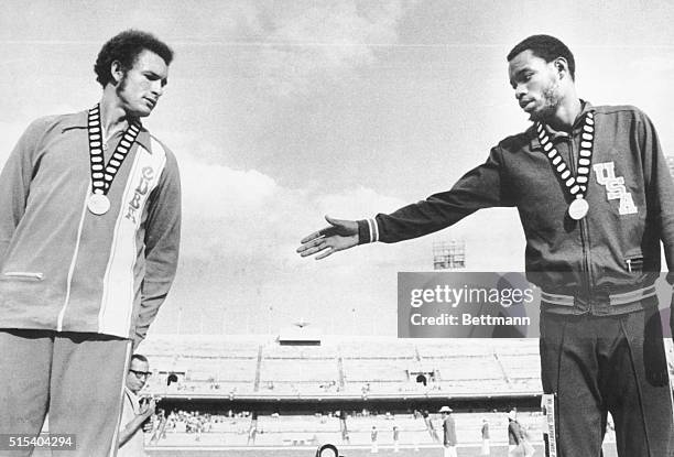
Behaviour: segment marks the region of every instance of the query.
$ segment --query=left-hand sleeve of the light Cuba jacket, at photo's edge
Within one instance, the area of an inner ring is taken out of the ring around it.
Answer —
[[[25,213],[33,162],[44,124],[45,119],[39,119],[29,126],[0,173],[0,268],[14,230]]]

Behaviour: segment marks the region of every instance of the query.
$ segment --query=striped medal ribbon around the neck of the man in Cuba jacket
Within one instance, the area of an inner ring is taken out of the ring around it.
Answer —
[[[121,167],[122,162],[135,142],[140,132],[141,124],[138,120],[131,122],[122,139],[117,144],[115,152],[104,167],[102,154],[102,126],[100,122],[100,107],[96,105],[89,110],[88,131],[89,131],[89,163],[91,170],[91,192],[98,195],[106,195],[110,189],[115,175]]]

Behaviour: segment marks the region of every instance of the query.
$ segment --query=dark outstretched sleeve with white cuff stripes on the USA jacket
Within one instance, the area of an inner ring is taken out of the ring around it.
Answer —
[[[359,243],[409,240],[449,227],[481,208],[514,206],[506,181],[502,151],[496,146],[483,164],[466,173],[452,189],[390,215],[359,220]]]

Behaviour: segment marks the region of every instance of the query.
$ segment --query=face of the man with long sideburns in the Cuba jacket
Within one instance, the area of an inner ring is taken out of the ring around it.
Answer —
[[[133,67],[124,73],[116,93],[128,115],[144,118],[150,116],[164,86],[168,81],[168,66],[157,54],[142,51]]]

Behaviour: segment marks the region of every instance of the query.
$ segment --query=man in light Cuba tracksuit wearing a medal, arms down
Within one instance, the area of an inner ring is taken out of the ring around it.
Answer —
[[[74,435],[64,455],[117,450],[132,346],[177,264],[176,161],[140,122],[172,58],[148,33],[112,37],[95,65],[100,101],[34,121],[4,164],[0,434],[35,436],[48,412],[51,434]]]

